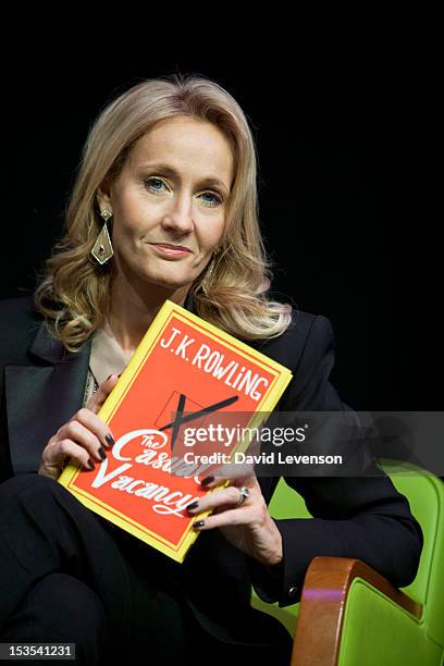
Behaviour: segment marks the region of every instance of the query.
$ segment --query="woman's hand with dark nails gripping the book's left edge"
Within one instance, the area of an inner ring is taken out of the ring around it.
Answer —
[[[103,446],[110,448],[114,440],[108,425],[96,415],[118,381],[119,377],[111,374],[91,395],[86,407],[59,428],[44,448],[39,474],[57,480],[69,458],[89,470],[95,468],[95,458],[100,462],[106,458]]]

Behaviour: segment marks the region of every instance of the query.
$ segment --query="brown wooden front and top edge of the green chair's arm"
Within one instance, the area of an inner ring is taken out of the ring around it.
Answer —
[[[422,606],[360,559],[314,557],[307,569],[292,666],[336,666],[348,590],[361,578],[417,618]]]

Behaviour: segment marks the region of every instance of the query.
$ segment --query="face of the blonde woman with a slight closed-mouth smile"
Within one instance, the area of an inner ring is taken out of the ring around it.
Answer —
[[[98,193],[113,214],[118,278],[189,287],[222,238],[232,178],[230,144],[214,125],[159,121]]]

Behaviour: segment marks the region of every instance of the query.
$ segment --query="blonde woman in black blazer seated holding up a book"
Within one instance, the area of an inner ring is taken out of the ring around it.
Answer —
[[[250,608],[251,582],[293,604],[316,555],[358,557],[395,585],[415,578],[421,530],[386,477],[288,477],[312,520],[271,518],[278,478],[237,478],[189,507],[215,510],[182,565],[55,482],[70,458],[91,469],[112,446],[97,412],[166,298],[291,368],[278,409],[347,409],[329,382],[329,320],[268,296],[255,145],[226,90],[172,76],[111,102],[55,250],[33,299],[1,304],[3,642],[75,642],[84,663],[288,664],[292,639]]]

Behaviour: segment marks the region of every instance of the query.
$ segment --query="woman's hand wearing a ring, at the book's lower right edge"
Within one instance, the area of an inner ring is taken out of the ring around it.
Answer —
[[[203,485],[211,489],[226,480],[218,477],[205,483],[203,479]],[[238,489],[242,486],[248,488],[249,495],[240,506],[236,506],[240,496]],[[281,532],[269,514],[254,471],[232,479],[226,488],[208,493],[198,501],[197,507],[188,509],[188,513],[200,514],[213,507],[215,508],[211,516],[207,516],[202,521],[198,520],[197,525],[194,523],[199,530],[219,528],[231,544],[262,564],[271,566],[282,562]]]

